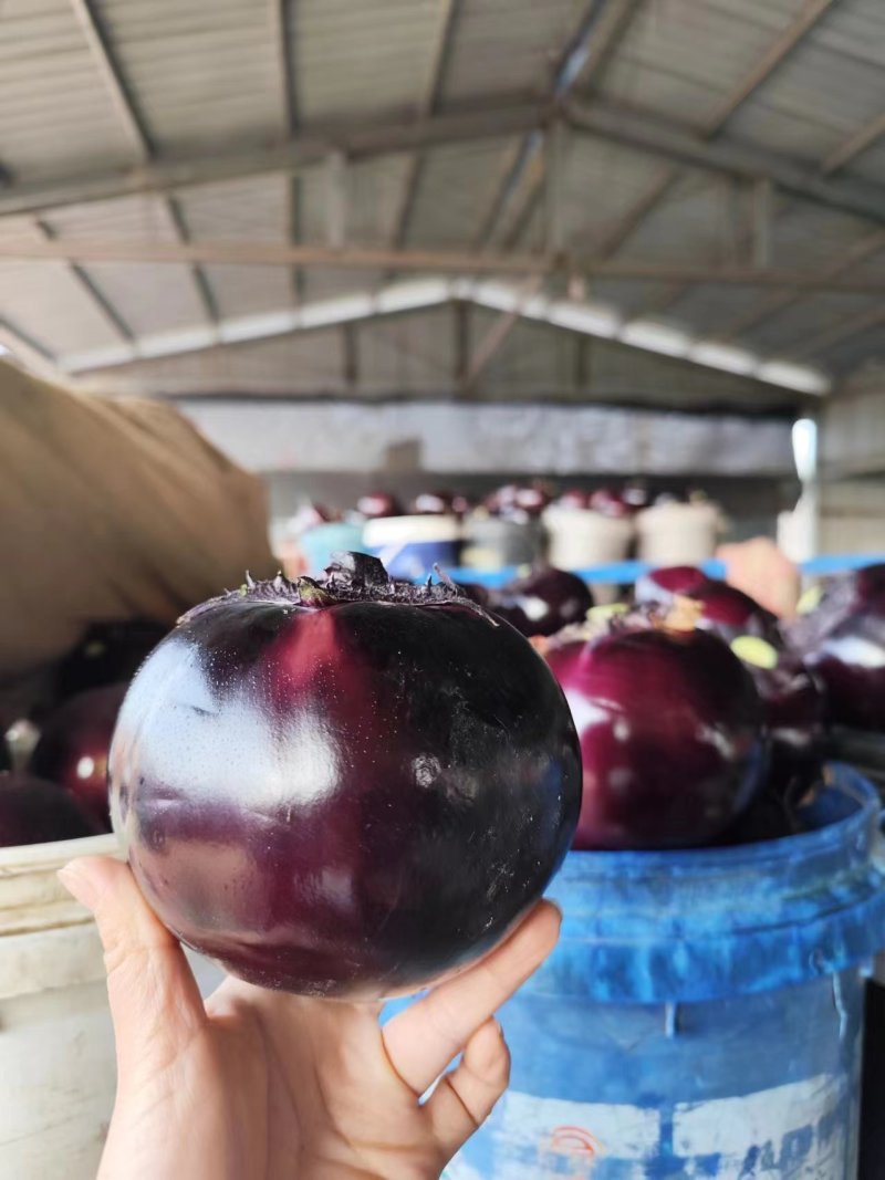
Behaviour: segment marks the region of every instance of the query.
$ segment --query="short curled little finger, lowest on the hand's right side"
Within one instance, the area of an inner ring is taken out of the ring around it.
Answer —
[[[465,1045],[458,1068],[442,1075],[425,1103],[446,1161],[485,1122],[509,1081],[510,1051],[500,1025],[486,1021]]]

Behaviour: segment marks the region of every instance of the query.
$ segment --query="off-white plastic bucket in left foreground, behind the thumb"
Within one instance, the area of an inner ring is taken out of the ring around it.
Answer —
[[[114,835],[0,848],[0,1175],[94,1180],[117,1086],[101,943],[55,873]],[[196,957],[195,957],[196,958]],[[195,963],[203,994],[222,978]]]

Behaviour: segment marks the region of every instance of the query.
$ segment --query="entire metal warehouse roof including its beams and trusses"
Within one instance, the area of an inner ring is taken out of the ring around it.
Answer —
[[[4,0],[0,345],[781,404],[881,359],[883,96],[881,0]]]

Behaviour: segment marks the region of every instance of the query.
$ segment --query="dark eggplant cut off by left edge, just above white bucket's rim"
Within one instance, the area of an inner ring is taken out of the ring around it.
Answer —
[[[54,782],[0,775],[0,847],[76,840],[100,831],[73,795]]]

